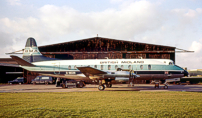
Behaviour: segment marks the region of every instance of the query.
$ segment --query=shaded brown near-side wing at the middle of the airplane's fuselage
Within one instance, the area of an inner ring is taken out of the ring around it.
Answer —
[[[91,74],[91,75],[98,75],[98,74],[107,74],[104,71],[92,68],[92,67],[77,67],[83,74]]]

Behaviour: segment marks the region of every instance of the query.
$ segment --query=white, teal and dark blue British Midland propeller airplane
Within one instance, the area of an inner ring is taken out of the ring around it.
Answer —
[[[20,67],[31,72],[67,80],[98,80],[100,91],[112,81],[165,80],[188,76],[188,72],[170,59],[86,59],[59,60],[43,56],[34,38],[28,38],[23,58],[11,55]],[[168,88],[167,83],[165,88]]]

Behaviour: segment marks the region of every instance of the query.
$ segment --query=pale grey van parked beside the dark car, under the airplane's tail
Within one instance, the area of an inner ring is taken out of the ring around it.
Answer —
[[[37,76],[35,79],[31,81],[33,84],[53,84],[53,78],[50,76]]]

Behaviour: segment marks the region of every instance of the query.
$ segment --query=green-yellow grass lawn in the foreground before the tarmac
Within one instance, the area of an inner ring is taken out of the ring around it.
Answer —
[[[202,117],[202,93],[0,93],[0,117]]]

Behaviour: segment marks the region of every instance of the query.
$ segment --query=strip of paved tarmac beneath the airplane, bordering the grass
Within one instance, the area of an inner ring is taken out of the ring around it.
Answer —
[[[87,85],[84,88],[66,88],[55,87],[55,85],[0,85],[0,92],[84,92],[99,91],[97,85]],[[134,87],[128,87],[127,84],[113,85],[112,88],[106,88],[105,91],[191,91],[202,92],[202,85],[169,85],[168,89],[155,89],[153,84],[135,84]]]

